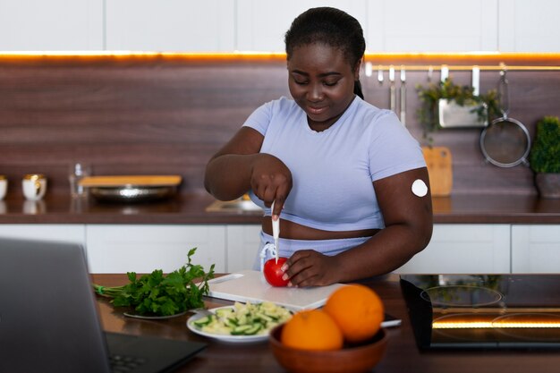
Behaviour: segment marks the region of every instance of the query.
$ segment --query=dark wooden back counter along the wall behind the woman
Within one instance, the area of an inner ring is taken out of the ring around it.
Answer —
[[[37,202],[0,201],[0,224],[259,224],[259,211],[208,212],[215,199],[206,192],[161,202],[99,203],[47,195]],[[517,195],[458,195],[434,198],[436,224],[560,224],[560,199]]]

